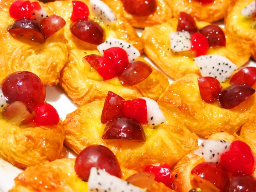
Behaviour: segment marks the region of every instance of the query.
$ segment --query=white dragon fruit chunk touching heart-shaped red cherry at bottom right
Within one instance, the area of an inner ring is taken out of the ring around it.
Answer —
[[[208,162],[219,163],[221,154],[229,151],[230,145],[230,142],[224,140],[204,140],[194,153]]]

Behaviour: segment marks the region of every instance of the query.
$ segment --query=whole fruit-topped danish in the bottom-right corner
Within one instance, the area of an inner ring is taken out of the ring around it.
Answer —
[[[255,165],[241,137],[217,133],[177,163],[172,182],[177,192],[255,192]]]

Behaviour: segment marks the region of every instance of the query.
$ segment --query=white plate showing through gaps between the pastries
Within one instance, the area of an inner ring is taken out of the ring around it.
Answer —
[[[221,25],[221,23],[218,24]],[[141,35],[142,31],[142,29],[137,30],[139,35]],[[146,61],[152,64],[154,68],[160,70],[145,55],[142,56]],[[256,67],[256,62],[251,60],[247,65]],[[172,83],[172,79],[169,79],[169,82]],[[72,102],[59,85],[56,87],[46,87],[46,92],[46,101],[56,108],[61,119],[65,119],[68,113],[71,113],[78,108],[78,106]],[[201,140],[199,140],[199,142],[200,141]],[[73,151],[68,150],[68,152],[64,154],[64,157],[75,158],[76,154]],[[22,172],[22,170],[12,166],[10,163],[0,158],[0,192],[8,192],[8,190],[14,185],[14,178],[20,172]]]

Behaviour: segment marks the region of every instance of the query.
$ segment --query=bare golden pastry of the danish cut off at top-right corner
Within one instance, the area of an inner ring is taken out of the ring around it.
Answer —
[[[255,27],[255,18],[247,19],[241,15],[241,11],[252,2],[253,0],[236,0],[228,10],[224,23],[233,36],[237,36],[243,44],[250,47],[251,56],[256,59],[256,29],[253,28]]]

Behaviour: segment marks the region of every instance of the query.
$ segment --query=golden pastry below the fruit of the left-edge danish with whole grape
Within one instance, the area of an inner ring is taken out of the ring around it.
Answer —
[[[0,157],[19,168],[61,158],[63,141],[57,126],[19,127],[0,119]]]

